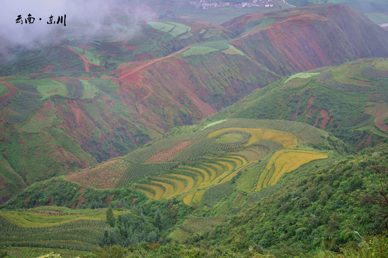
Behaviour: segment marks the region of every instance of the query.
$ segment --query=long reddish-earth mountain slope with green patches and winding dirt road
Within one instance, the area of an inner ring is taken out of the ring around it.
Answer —
[[[117,25],[123,35],[130,29],[124,20]],[[343,5],[271,10],[222,25],[154,20],[139,28],[132,38],[85,42],[73,35],[1,61],[1,166],[11,171],[1,172],[2,201],[33,182],[125,155],[280,75],[388,56],[387,31]]]

